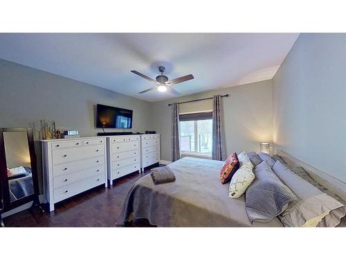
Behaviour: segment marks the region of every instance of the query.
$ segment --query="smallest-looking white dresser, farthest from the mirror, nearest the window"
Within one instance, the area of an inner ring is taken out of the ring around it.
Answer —
[[[160,162],[160,134],[140,135],[140,167]]]

